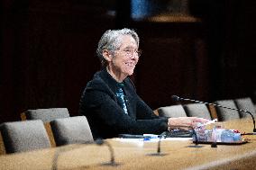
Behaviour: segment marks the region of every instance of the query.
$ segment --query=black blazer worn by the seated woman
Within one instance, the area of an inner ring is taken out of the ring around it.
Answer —
[[[118,134],[160,134],[167,130],[167,118],[156,116],[136,94],[130,78],[123,80],[128,115],[117,103],[118,83],[106,69],[97,72],[81,96],[79,113],[87,117],[94,139],[109,139]]]

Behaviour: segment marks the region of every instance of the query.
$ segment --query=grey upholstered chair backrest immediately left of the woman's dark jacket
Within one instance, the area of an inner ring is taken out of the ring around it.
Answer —
[[[56,146],[94,141],[85,116],[50,121]]]

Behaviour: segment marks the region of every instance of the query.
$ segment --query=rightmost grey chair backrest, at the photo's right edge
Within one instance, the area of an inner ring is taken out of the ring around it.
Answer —
[[[234,102],[238,109],[249,111],[253,116],[256,116],[254,104],[252,103],[250,97],[238,98],[238,99],[235,99]],[[241,118],[251,117],[251,115],[246,112],[239,112],[239,113]]]

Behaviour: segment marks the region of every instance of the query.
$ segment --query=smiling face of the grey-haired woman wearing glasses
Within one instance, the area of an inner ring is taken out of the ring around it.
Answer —
[[[121,46],[114,51],[114,57],[109,65],[111,65],[115,73],[121,76],[131,76],[138,60],[136,41],[130,35],[123,35],[121,37]]]

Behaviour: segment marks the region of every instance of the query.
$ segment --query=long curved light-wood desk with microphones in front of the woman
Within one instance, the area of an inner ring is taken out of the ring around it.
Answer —
[[[226,129],[251,132],[251,120],[223,122]],[[102,166],[109,161],[110,153],[105,146],[69,145],[9,154],[0,157],[0,169],[256,169],[256,137],[249,143],[228,146],[195,144],[191,141],[162,141],[161,151],[166,156],[149,156],[156,153],[157,142],[106,141],[114,148],[115,161],[120,166]],[[56,161],[56,156],[59,155]],[[55,161],[53,161],[55,160]],[[55,164],[53,168],[52,165]]]

